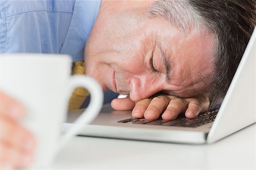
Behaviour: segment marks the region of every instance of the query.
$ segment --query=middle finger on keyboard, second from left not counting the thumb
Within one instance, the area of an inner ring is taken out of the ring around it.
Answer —
[[[144,117],[148,120],[156,120],[159,118],[160,114],[166,109],[170,102],[170,98],[167,96],[156,96],[152,99],[148,105]]]

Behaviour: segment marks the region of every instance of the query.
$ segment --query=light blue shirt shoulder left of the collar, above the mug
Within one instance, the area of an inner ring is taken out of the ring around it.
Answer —
[[[19,2],[0,1],[0,53],[59,53],[71,22],[72,4]]]

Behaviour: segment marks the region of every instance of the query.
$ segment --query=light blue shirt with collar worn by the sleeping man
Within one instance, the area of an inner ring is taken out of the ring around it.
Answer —
[[[84,59],[101,1],[0,1],[0,53],[60,53]]]

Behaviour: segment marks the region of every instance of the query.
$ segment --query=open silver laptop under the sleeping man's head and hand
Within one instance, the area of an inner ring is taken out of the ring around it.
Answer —
[[[217,110],[200,113],[194,119],[180,115],[176,120],[148,121],[131,118],[131,111],[114,111],[104,105],[100,114],[79,135],[139,141],[203,144],[216,142],[256,122],[255,56],[256,29]],[[71,128],[82,110],[68,113],[63,130]]]

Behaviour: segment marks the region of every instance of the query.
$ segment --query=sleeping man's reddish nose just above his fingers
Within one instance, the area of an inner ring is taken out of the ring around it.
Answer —
[[[162,90],[158,81],[147,78],[146,76],[131,78],[130,86],[130,99],[133,101],[146,99]]]

